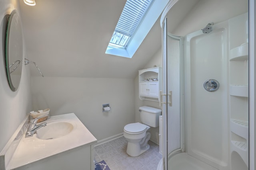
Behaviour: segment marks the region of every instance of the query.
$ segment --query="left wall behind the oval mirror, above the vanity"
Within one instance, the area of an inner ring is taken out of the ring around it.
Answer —
[[[14,131],[16,131],[26,113],[32,108],[29,90],[30,76],[28,76],[30,72],[28,67],[23,65],[20,86],[16,92],[12,92],[6,77],[4,43],[7,25],[4,16],[10,14],[13,9],[17,9],[18,12],[20,11],[18,0],[0,1],[0,151],[4,148]]]

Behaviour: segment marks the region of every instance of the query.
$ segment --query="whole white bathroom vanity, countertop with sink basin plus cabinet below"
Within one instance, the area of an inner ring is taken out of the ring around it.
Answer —
[[[28,115],[0,152],[0,170],[95,169],[94,145],[97,139],[74,113],[51,116],[45,121],[47,125],[42,128],[49,129],[41,133],[51,135],[49,139],[38,137],[40,129],[32,137],[25,138],[23,132],[26,131],[22,129],[28,124],[27,119]],[[68,129],[71,131],[64,133]],[[22,133],[17,135],[19,132]]]

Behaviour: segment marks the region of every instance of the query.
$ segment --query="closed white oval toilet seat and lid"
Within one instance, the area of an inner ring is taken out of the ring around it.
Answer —
[[[130,123],[124,126],[124,131],[129,134],[143,133],[147,129],[148,129],[148,126],[142,123]]]

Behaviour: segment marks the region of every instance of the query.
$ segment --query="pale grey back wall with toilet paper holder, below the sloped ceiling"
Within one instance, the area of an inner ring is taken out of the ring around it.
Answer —
[[[33,109],[50,115],[75,113],[97,140],[134,123],[134,80],[122,78],[31,77]],[[102,113],[102,104],[111,111]]]

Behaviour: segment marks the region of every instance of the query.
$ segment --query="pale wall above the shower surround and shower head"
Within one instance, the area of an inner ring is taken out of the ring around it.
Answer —
[[[183,2],[186,3],[186,0]],[[174,31],[168,29],[168,31],[174,35],[185,36],[203,29],[210,22],[220,23],[247,11],[248,0],[199,0],[179,25],[176,25],[176,29]],[[167,22],[172,24],[172,21],[175,21],[175,18],[169,16]]]

